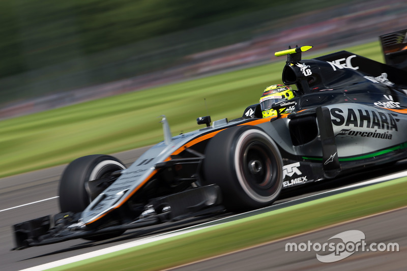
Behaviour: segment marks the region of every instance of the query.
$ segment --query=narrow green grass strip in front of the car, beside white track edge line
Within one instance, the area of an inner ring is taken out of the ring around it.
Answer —
[[[53,268],[160,270],[407,205],[407,177]],[[289,252],[287,252],[289,253]]]

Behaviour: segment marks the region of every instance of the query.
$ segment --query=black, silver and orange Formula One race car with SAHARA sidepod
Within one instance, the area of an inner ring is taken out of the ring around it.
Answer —
[[[301,59],[311,46],[277,52],[298,95],[273,104],[276,116],[251,105],[172,138],[163,117],[164,141],[128,168],[107,155],[76,159],[61,178],[61,213],[14,225],[15,249],[264,207],[282,189],[407,158],[406,39],[381,36],[387,64],[347,51]]]

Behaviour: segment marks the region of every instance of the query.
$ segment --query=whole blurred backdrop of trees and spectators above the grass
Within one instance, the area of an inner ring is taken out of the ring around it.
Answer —
[[[0,119],[377,40],[405,14],[396,0],[3,0]]]

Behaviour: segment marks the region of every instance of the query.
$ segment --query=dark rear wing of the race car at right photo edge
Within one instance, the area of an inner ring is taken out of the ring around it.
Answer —
[[[407,71],[407,29],[380,36],[386,64]]]

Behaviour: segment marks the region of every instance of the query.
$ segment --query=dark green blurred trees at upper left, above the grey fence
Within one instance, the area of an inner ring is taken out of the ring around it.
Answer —
[[[300,0],[290,4],[296,2]],[[0,77],[284,4],[283,0],[3,0]]]

